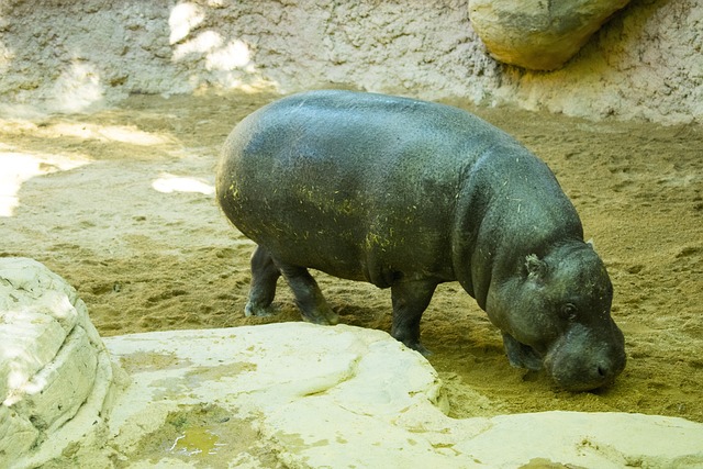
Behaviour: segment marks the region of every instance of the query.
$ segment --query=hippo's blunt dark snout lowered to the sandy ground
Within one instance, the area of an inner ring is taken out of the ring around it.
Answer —
[[[568,391],[589,391],[611,384],[625,369],[625,339],[612,323],[605,334],[576,325],[544,359],[556,383]]]

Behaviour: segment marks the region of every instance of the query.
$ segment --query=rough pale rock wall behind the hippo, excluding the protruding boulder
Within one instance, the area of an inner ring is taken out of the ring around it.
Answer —
[[[468,0],[0,0],[0,110],[130,93],[347,87],[660,123],[703,119],[703,4],[634,0],[566,67],[486,53]]]

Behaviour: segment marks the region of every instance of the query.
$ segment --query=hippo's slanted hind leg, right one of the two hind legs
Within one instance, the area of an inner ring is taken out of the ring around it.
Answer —
[[[335,325],[339,316],[332,311],[306,268],[277,263],[295,297],[303,319],[314,324]]]

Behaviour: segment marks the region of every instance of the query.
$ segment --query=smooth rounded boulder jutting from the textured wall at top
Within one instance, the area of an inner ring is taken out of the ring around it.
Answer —
[[[490,54],[533,70],[554,70],[629,0],[469,0],[469,18]]]

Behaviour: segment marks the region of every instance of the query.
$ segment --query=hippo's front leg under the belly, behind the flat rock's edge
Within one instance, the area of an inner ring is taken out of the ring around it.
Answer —
[[[399,282],[391,287],[393,324],[391,335],[422,355],[429,355],[420,343],[420,320],[425,312],[437,283],[426,281]]]

